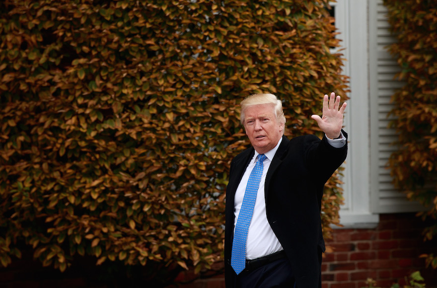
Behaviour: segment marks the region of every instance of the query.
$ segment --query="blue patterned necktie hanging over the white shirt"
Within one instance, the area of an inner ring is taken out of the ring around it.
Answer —
[[[266,155],[259,154],[255,167],[250,172],[247,182],[246,192],[244,193],[243,204],[238,214],[237,224],[235,225],[234,239],[232,241],[232,254],[230,265],[238,275],[246,267],[246,239],[252,220],[253,207],[255,206],[256,194],[258,192],[261,175],[263,174],[263,161]]]

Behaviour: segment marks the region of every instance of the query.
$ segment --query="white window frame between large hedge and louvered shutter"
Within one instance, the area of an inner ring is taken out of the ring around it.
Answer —
[[[342,40],[339,49],[346,59],[343,72],[350,77],[351,90],[344,119],[349,148],[340,224],[344,228],[370,228],[379,222],[379,214],[371,213],[370,207],[368,1],[337,0],[331,5],[335,8],[337,38]]]

